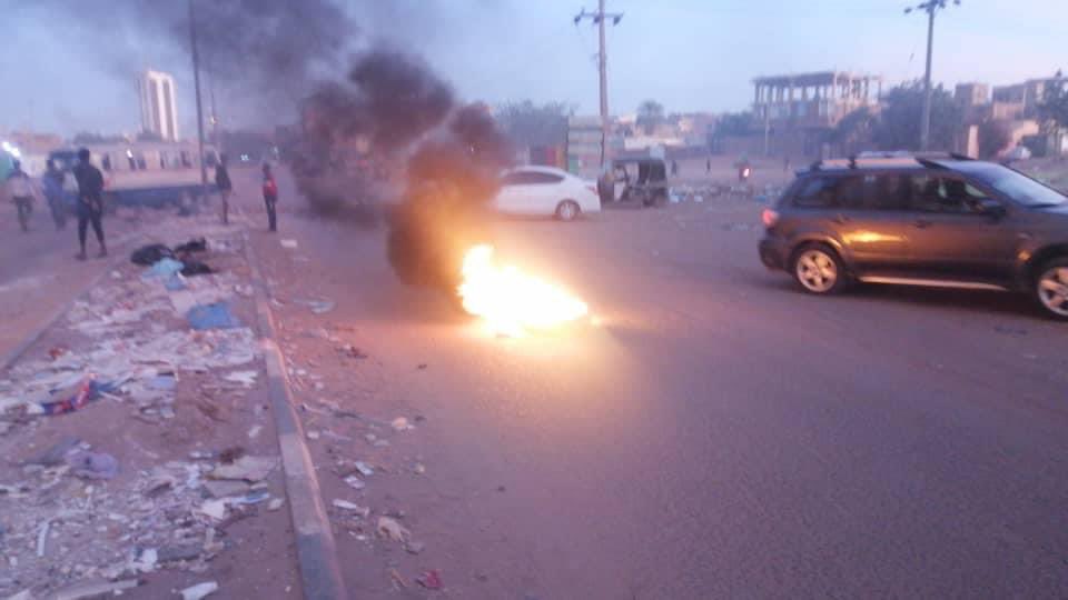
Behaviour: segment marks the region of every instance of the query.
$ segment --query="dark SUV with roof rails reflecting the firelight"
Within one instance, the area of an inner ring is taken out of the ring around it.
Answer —
[[[1024,291],[1068,319],[1068,198],[956,154],[854,158],[798,173],[760,258],[809,292],[851,281]]]

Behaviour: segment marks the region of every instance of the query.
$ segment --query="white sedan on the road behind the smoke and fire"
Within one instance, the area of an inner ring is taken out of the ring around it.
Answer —
[[[556,217],[571,221],[601,212],[597,186],[553,167],[517,167],[501,174],[494,207],[507,214]]]

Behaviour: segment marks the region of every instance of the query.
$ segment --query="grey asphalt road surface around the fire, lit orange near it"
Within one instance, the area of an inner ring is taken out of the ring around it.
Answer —
[[[380,230],[284,213],[296,251],[257,232],[289,359],[326,383],[301,398],[425,418],[385,449],[360,437],[388,428],[306,422],[338,440],[309,442],[327,503],[330,462],[374,457],[359,503],[426,543],[336,529],[354,596],[422,597],[438,569],[454,598],[1068,597],[1068,326],[1008,294],[802,294],[761,267],[758,220],[498,223],[600,320],[523,339],[399,284]],[[300,334],[319,326],[369,358],[329,359]]]

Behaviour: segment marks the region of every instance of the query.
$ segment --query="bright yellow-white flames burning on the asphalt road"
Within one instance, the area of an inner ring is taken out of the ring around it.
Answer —
[[[464,256],[464,282],[459,296],[464,310],[482,317],[494,333],[521,336],[528,329],[545,329],[586,314],[589,307],[565,290],[501,267],[492,246],[476,246]]]

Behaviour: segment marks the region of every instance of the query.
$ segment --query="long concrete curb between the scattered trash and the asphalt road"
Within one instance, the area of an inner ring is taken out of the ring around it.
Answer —
[[[253,288],[256,290],[260,348],[267,366],[267,388],[271,412],[275,414],[275,428],[278,431],[289,517],[297,536],[297,562],[304,597],[307,600],[344,600],[348,598],[348,593],[337,561],[337,546],[319,492],[319,480],[312,464],[312,454],[304,441],[304,430],[294,408],[289,380],[286,377],[286,362],[275,342],[277,332],[267,300],[267,283],[259,270],[247,230],[243,237],[245,257],[253,273]]]

